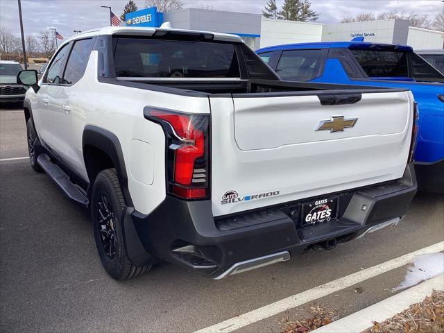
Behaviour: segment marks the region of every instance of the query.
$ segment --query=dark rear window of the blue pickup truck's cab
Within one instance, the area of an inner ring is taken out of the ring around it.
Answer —
[[[371,77],[409,77],[407,52],[354,50],[359,65]]]

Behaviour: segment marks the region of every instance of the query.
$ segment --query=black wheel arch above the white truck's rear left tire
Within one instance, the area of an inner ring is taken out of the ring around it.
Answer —
[[[87,125],[82,136],[83,161],[89,178],[88,197],[94,180],[104,169],[116,169],[117,178],[125,198],[126,205],[133,207],[133,200],[128,189],[128,176],[119,138],[109,130]]]

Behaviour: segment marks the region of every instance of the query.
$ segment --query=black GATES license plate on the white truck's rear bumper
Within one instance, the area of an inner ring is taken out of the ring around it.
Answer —
[[[337,219],[338,197],[321,198],[302,204],[300,226],[315,225]]]

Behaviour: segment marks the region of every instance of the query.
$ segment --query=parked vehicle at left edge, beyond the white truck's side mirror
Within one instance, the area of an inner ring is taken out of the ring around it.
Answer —
[[[17,85],[17,74],[22,71],[18,62],[0,60],[0,103],[22,102],[26,90]]]

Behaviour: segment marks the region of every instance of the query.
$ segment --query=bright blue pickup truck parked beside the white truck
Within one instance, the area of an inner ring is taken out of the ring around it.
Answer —
[[[352,40],[256,52],[283,80],[410,89],[419,110],[418,185],[423,191],[444,192],[444,75],[410,46]]]

